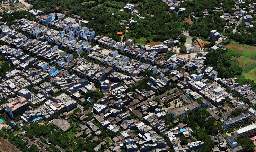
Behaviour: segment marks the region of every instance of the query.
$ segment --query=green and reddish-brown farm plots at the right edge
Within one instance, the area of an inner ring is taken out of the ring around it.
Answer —
[[[231,56],[236,57],[238,66],[242,67],[242,75],[256,82],[256,47],[231,41],[227,48]]]

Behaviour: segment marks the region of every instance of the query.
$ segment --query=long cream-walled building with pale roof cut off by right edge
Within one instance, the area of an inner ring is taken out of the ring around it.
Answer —
[[[255,136],[256,135],[256,124],[251,124],[245,127],[242,127],[235,131],[235,138],[238,141],[241,138]]]

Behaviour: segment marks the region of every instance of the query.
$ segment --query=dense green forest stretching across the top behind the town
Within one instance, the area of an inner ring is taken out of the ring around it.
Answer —
[[[194,0],[193,2],[184,1],[180,7],[186,8],[187,11],[182,16],[176,13],[169,14],[169,7],[161,0],[28,0],[33,4],[35,9],[40,9],[46,14],[57,12],[66,12],[67,16],[76,14],[82,19],[88,20],[89,27],[93,28],[97,35],[104,34],[107,36],[116,35],[117,31],[124,32],[124,27],[120,26],[121,20],[129,21],[129,19],[138,21],[136,25],[129,25],[130,30],[124,38],[133,38],[135,41],[163,41],[166,39],[177,39],[183,30],[190,30],[195,36],[207,38],[212,29],[223,31],[226,20],[219,16],[223,12],[213,12],[211,9],[220,7],[219,3],[224,3],[224,11],[232,11],[234,2],[232,0]],[[140,19],[136,15],[119,11],[126,3],[136,4]],[[208,5],[205,5],[207,3]],[[56,6],[59,9],[56,9]],[[179,7],[176,7],[178,10]],[[203,11],[209,10],[209,16],[203,17]],[[231,10],[230,10],[231,9]],[[193,20],[193,25],[185,21],[185,18],[193,18],[192,13],[197,17]],[[115,13],[112,15],[112,13]]]

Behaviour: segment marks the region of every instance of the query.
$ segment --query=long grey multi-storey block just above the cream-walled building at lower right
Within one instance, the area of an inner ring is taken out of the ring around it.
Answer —
[[[241,124],[243,122],[246,122],[248,120],[250,120],[251,115],[248,113],[242,113],[239,116],[233,117],[233,118],[229,118],[228,120],[224,121],[224,125],[223,128],[226,130],[228,128],[234,127],[238,124]]]

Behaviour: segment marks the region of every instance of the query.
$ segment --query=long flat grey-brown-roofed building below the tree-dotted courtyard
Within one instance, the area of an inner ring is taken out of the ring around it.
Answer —
[[[200,108],[201,108],[201,105],[198,104],[196,101],[194,101],[178,108],[175,107],[173,109],[169,109],[168,112],[171,116],[175,118],[177,117],[183,118],[186,115],[188,115],[189,111],[195,111],[196,109],[200,109]]]

